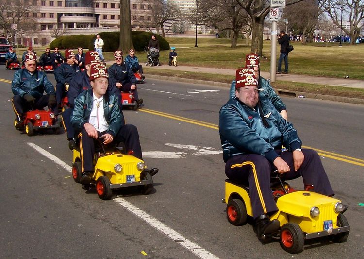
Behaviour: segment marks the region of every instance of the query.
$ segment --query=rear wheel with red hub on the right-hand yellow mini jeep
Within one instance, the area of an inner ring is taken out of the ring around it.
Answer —
[[[247,223],[247,208],[242,200],[232,199],[226,205],[226,217],[230,224],[240,226]]]

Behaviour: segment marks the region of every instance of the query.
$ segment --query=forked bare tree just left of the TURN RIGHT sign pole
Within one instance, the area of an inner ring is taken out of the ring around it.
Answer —
[[[289,0],[286,6],[298,3],[303,0]],[[251,52],[257,51],[258,55],[262,55],[263,50],[263,29],[264,19],[269,13],[269,0],[238,0],[239,4],[248,12],[252,19],[253,35],[251,39]]]

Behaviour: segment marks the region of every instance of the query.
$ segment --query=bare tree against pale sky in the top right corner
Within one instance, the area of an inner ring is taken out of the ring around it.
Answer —
[[[350,44],[354,45],[364,27],[364,0],[320,0],[325,12],[331,17],[332,22],[341,27],[343,19],[349,20],[350,28],[342,26],[342,30],[350,36]]]

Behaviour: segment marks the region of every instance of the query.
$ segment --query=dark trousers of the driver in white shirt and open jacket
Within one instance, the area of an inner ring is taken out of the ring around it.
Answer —
[[[99,133],[99,136],[104,133],[106,132]],[[85,129],[81,131],[80,136],[82,172],[94,171],[93,160],[95,155],[95,144],[98,144],[97,140],[95,138],[90,138]],[[113,143],[121,141],[125,144],[127,154],[131,152],[135,157],[143,160],[138,129],[134,125],[124,125],[120,128],[119,132],[114,137]]]

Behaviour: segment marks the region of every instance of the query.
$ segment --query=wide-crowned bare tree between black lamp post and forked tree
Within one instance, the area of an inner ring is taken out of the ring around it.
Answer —
[[[251,18],[237,0],[200,0],[198,23],[215,27],[220,32],[230,30],[231,47],[235,48],[243,27],[249,27]],[[193,12],[191,12],[193,13]],[[195,12],[196,13],[196,9]],[[190,18],[193,21],[192,18]]]

